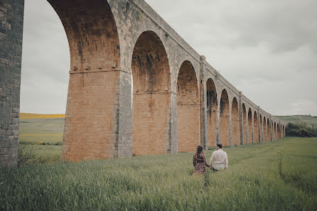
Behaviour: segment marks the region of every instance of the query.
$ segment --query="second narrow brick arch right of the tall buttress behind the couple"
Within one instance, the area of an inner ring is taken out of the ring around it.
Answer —
[[[220,141],[223,146],[230,145],[229,123],[229,97],[227,90],[222,90],[220,98]]]

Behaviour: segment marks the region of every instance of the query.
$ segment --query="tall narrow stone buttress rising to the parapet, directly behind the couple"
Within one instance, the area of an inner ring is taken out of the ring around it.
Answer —
[[[206,58],[200,55],[200,144],[204,149],[208,148],[208,130],[207,130],[207,92],[205,85],[205,67]]]

